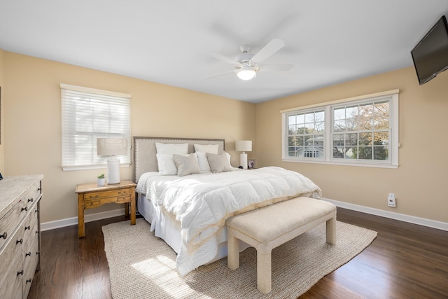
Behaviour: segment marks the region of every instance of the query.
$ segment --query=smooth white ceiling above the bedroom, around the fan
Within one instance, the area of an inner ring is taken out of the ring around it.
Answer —
[[[2,0],[0,48],[258,103],[412,66],[442,15],[447,0]],[[272,39],[286,46],[265,63],[290,71],[204,79],[232,70],[207,51]]]

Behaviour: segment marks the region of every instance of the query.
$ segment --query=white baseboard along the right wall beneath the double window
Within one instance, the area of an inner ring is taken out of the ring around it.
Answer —
[[[442,221],[435,221],[426,218],[420,218],[415,216],[409,216],[405,214],[399,214],[392,211],[384,211],[381,209],[374,209],[370,207],[360,206],[358,204],[349,204],[347,202],[339,202],[337,200],[330,200],[328,198],[323,198],[323,200],[327,202],[331,202],[335,204],[336,207],[342,207],[344,209],[351,209],[353,211],[360,211],[367,214],[372,214],[376,216],[391,218],[399,221],[405,221],[409,223],[414,223],[418,225],[428,226],[429,228],[437,228],[439,230],[447,230],[448,231],[448,223]]]

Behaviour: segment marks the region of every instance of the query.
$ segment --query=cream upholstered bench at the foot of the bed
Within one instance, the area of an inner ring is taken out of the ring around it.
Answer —
[[[257,288],[271,291],[271,251],[326,221],[326,242],[336,242],[336,207],[310,197],[295,197],[228,218],[228,267],[239,267],[239,241],[257,249]]]

